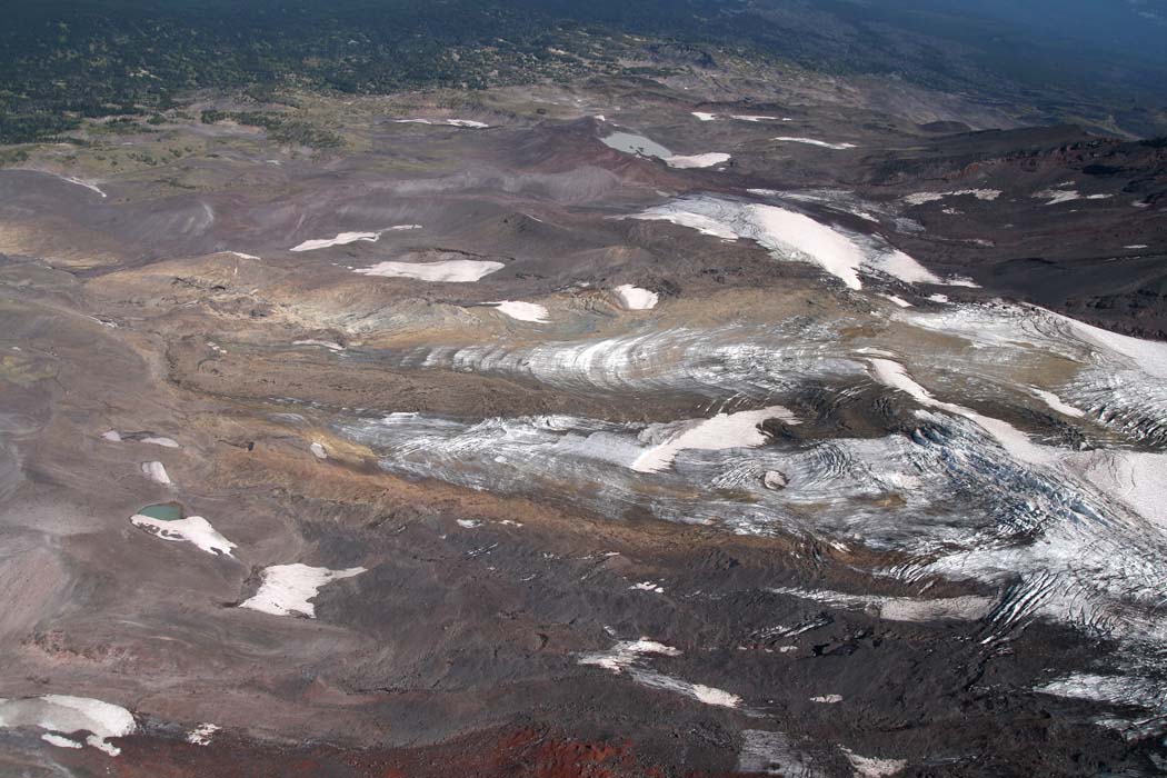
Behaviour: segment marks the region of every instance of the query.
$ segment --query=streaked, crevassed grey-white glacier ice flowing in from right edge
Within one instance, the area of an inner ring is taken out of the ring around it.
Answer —
[[[738,234],[749,204],[690,198],[668,208],[662,218]],[[872,268],[871,245],[851,245],[864,257],[857,267]],[[967,581],[986,594],[780,594],[888,621],[980,622],[986,643],[1056,622],[1113,642],[1113,661],[1097,678],[1049,679],[1042,693],[1154,708],[1167,692],[1167,628],[1158,617],[1167,589],[1167,345],[1029,306],[881,301],[868,314],[852,310],[706,329],[647,321],[610,338],[382,355],[403,369],[523,377],[614,400],[698,397],[700,416],[636,425],[387,414],[342,420],[334,432],[408,476],[555,495],[615,520],[647,510],[886,553],[894,561],[871,572],[911,584]],[[848,341],[844,330],[861,322],[879,329]],[[914,356],[921,343],[927,352]],[[788,442],[763,434],[763,422],[805,421],[789,400],[811,388],[827,405],[878,397],[896,415],[882,435]],[[1058,432],[1067,428],[1078,437]],[[1093,444],[1083,447],[1083,437]],[[706,694],[636,657],[619,672]]]

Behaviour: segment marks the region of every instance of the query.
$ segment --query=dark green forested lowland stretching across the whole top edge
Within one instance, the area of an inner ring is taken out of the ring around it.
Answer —
[[[1036,86],[1064,94],[1077,90],[1079,97],[1116,105],[1120,94],[1141,94],[1153,105],[1165,99],[1167,83],[1167,64],[1160,62],[1167,57],[1134,58],[1154,48],[1135,47],[1121,56],[1093,52],[1086,58],[1081,45],[1067,50],[1042,40],[1040,26],[1021,33],[1021,45],[1018,34],[1008,38],[1013,28],[971,15],[967,3],[956,0],[951,8],[927,14],[916,0],[15,0],[7,5],[0,24],[0,143],[58,139],[85,119],[104,119],[109,132],[140,132],[166,124],[165,114],[201,89],[280,104],[287,103],[282,94],[312,90],[386,94],[562,80],[596,72],[662,76],[715,66],[725,54],[752,62],[782,58],[833,73],[895,73],[935,89],[993,99],[1032,96]],[[1068,69],[1083,62],[1089,62],[1089,73],[1081,72],[1081,64],[1076,71]],[[631,65],[626,70],[624,63]],[[1027,77],[1041,83],[1019,86]],[[334,140],[308,125],[252,119],[287,142],[327,147]]]

